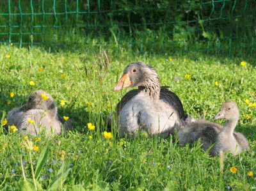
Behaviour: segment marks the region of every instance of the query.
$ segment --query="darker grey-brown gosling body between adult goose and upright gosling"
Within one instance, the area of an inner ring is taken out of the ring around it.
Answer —
[[[194,119],[193,122],[188,123],[184,128],[180,128],[177,133],[179,144],[184,146],[188,142],[196,142],[198,139],[202,144],[202,148],[206,151],[209,146],[217,141],[218,134],[220,134],[222,125],[212,123],[205,119]]]

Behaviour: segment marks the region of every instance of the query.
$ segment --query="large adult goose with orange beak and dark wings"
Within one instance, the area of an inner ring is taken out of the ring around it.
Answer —
[[[130,137],[136,130],[168,137],[189,118],[175,93],[160,86],[160,78],[150,65],[138,61],[127,65],[114,91],[138,86],[117,104],[119,136]],[[136,135],[136,134],[135,134]]]

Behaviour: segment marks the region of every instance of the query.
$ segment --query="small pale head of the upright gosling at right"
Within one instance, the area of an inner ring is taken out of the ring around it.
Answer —
[[[221,105],[220,111],[216,116],[215,119],[227,119],[228,121],[236,120],[239,118],[239,109],[236,102],[228,100]]]

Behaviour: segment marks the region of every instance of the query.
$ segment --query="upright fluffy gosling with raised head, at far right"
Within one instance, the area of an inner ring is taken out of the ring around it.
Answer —
[[[216,144],[210,149],[210,155],[220,155],[220,151],[223,151],[223,153],[230,151],[230,153],[237,155],[245,149],[250,149],[244,135],[234,132],[239,119],[239,109],[236,102],[224,102],[214,119],[226,119],[226,123],[217,137]]]

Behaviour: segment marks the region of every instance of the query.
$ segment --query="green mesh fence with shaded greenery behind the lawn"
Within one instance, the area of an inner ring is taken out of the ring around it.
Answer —
[[[0,43],[45,50],[255,55],[255,0],[0,0]]]

